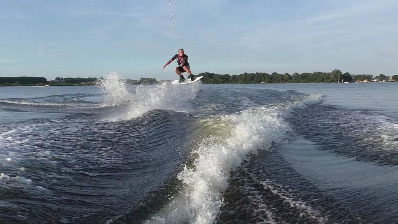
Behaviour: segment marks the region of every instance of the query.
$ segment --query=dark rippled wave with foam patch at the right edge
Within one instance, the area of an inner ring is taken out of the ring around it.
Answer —
[[[370,110],[314,105],[295,114],[291,122],[321,149],[358,161],[398,165],[397,118]]]

